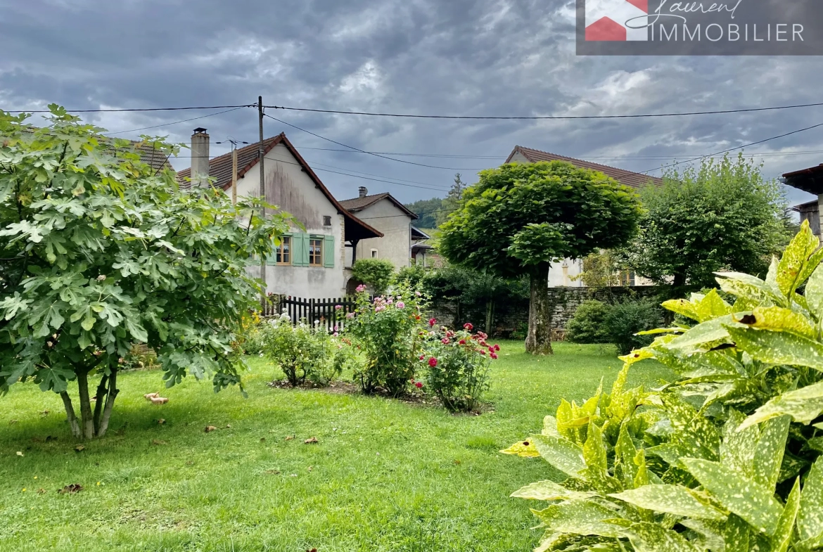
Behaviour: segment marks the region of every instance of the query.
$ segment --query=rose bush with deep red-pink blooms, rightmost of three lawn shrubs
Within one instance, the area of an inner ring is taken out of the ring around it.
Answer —
[[[472,333],[472,324],[452,331],[437,327],[430,320],[425,354],[428,366],[427,391],[432,392],[449,411],[472,411],[489,388],[489,367],[500,346],[486,342],[483,332]]]

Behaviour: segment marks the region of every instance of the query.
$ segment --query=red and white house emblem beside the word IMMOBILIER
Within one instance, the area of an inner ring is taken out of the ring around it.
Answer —
[[[585,0],[586,40],[648,40],[649,0]]]

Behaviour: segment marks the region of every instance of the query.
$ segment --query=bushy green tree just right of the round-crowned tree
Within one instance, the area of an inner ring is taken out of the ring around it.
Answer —
[[[788,241],[779,183],[742,154],[672,169],[663,181],[641,191],[645,212],[626,257],[641,276],[673,285],[674,296],[714,285],[715,271],[763,275]]]

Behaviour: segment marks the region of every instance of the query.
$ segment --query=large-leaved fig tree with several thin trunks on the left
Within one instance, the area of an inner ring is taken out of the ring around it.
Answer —
[[[167,387],[187,373],[211,375],[215,391],[239,384],[237,334],[262,293],[246,267],[291,217],[263,220],[257,200],[233,206],[214,189],[181,192],[132,142],[49,109],[45,128],[0,112],[0,391],[33,379],[92,438],[106,432],[119,359],[136,343],[156,350]]]

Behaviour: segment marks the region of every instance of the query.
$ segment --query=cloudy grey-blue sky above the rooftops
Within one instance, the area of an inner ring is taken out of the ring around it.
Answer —
[[[0,36],[6,110],[239,105],[262,95],[268,105],[402,114],[672,113],[819,102],[823,81],[816,57],[577,56],[565,0],[0,0]],[[188,143],[204,127],[212,142],[258,139],[256,109],[221,111],[83,117],[119,137]],[[476,182],[515,145],[660,175],[676,160],[823,123],[823,106],[565,121],[266,111],[284,122],[265,118],[266,136],[285,131],[335,197],[365,186],[402,202],[444,196],[455,173]],[[346,148],[285,123],[408,162],[329,151]],[[212,155],[226,151],[211,144]],[[744,153],[770,178],[819,165],[823,127]],[[186,155],[175,168],[189,166]],[[787,192],[793,204],[814,198]]]

